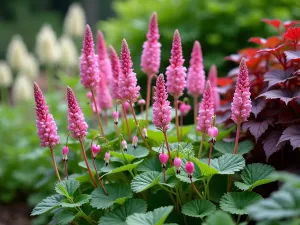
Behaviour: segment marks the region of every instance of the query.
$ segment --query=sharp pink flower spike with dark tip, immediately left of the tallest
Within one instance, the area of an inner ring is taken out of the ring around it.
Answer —
[[[122,41],[121,73],[119,74],[119,96],[122,100],[136,102],[140,95],[140,86],[137,85],[136,73],[132,69],[132,61],[128,44]]]

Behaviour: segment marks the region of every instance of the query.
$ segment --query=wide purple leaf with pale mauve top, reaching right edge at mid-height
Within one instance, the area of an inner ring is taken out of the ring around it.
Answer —
[[[300,89],[295,92],[286,89],[271,90],[259,95],[258,97],[262,96],[266,97],[266,99],[280,99],[287,105],[293,99],[300,98]]]

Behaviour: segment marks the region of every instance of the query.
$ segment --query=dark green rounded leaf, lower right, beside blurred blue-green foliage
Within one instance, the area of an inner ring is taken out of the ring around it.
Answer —
[[[254,192],[229,192],[223,195],[220,200],[220,208],[231,214],[247,214],[246,207],[261,200],[262,197]]]

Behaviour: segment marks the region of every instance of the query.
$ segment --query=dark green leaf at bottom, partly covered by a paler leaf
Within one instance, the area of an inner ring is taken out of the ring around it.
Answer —
[[[99,225],[126,225],[126,218],[134,213],[146,213],[147,203],[142,199],[129,199],[122,206],[107,212],[99,220]]]

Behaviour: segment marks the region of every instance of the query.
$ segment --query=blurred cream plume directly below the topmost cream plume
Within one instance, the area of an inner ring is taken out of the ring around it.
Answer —
[[[69,36],[60,38],[60,60],[62,68],[74,68],[77,66],[79,58],[76,46]]]

